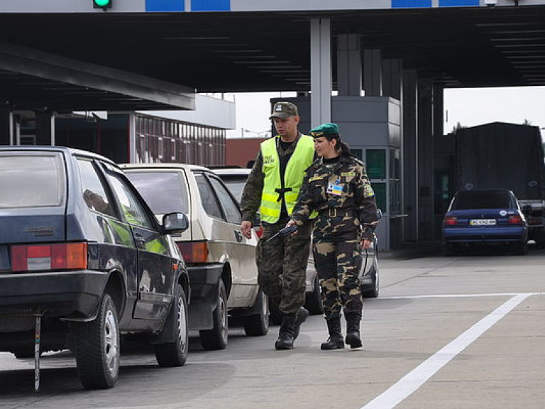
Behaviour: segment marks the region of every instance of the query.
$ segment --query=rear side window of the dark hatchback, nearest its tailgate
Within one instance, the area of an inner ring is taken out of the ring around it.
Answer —
[[[111,198],[106,194],[104,184],[100,180],[97,168],[95,168],[92,160],[78,158],[77,167],[82,182],[81,194],[87,207],[95,212],[117,217],[114,207],[111,206]]]

